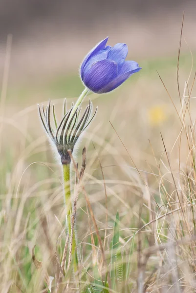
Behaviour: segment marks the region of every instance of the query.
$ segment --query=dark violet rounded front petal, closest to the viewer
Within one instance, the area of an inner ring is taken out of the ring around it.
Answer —
[[[95,93],[104,93],[107,87],[117,77],[117,64],[112,60],[102,60],[94,63],[84,75],[84,84]]]

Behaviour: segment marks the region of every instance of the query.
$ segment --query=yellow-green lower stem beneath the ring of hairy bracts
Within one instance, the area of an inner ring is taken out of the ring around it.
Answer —
[[[66,215],[67,215],[67,227],[69,233],[69,240],[71,235],[71,215],[73,214],[72,202],[71,202],[71,188],[70,188],[70,164],[63,165],[63,174],[64,174],[64,191],[65,191],[65,206],[66,206]],[[73,238],[72,238],[72,259],[74,263],[74,271],[77,271],[77,251],[76,251],[76,237],[75,229],[73,227]]]

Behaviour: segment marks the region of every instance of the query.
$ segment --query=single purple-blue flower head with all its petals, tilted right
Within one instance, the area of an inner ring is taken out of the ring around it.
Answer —
[[[141,67],[135,61],[125,61],[128,46],[117,43],[106,46],[108,37],[99,42],[85,57],[80,75],[83,83],[95,93],[107,93],[123,84]]]

